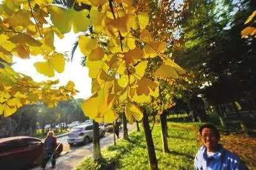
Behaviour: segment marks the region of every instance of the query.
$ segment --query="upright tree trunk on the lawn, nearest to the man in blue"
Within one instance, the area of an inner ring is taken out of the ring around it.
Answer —
[[[160,115],[160,122],[161,122],[161,135],[162,135],[162,142],[163,142],[163,152],[169,153],[170,150],[168,149],[168,142],[167,142],[167,120],[166,120],[166,111]]]

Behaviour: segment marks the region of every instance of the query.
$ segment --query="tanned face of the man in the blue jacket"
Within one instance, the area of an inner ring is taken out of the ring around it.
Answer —
[[[206,145],[208,152],[216,151],[219,139],[210,128],[203,128],[201,139],[202,142],[204,142],[204,145]]]

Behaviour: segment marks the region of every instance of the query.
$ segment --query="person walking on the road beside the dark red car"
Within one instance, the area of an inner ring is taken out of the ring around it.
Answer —
[[[45,169],[45,166],[49,159],[52,162],[52,168],[55,167],[55,149],[57,147],[57,139],[54,137],[54,132],[49,131],[47,133],[47,137],[44,142],[44,152],[43,152],[43,160],[42,160],[42,168]]]

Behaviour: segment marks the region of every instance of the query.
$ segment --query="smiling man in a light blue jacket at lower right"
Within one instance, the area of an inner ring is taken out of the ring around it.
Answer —
[[[238,156],[218,144],[220,135],[214,125],[205,124],[199,128],[204,145],[195,156],[194,169],[243,170],[248,169]]]

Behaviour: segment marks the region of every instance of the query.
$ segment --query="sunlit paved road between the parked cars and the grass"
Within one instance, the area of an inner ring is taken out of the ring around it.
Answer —
[[[136,124],[134,125],[128,125],[127,126],[128,131],[130,132],[134,128],[136,128]],[[120,137],[123,135],[123,131],[120,130]],[[91,156],[93,152],[93,143],[90,142],[90,144],[87,145],[73,145],[72,147],[69,147],[67,144],[67,136],[58,138],[58,140],[62,140],[64,144],[64,152],[62,152],[61,156],[57,157],[56,159],[56,170],[70,170],[76,167],[79,162],[83,160],[84,157]],[[100,139],[100,146],[101,148],[105,148],[109,145],[113,144],[113,133],[106,133],[105,137]],[[41,169],[40,166],[34,167],[33,170]],[[51,164],[48,162],[45,170],[50,170]]]

